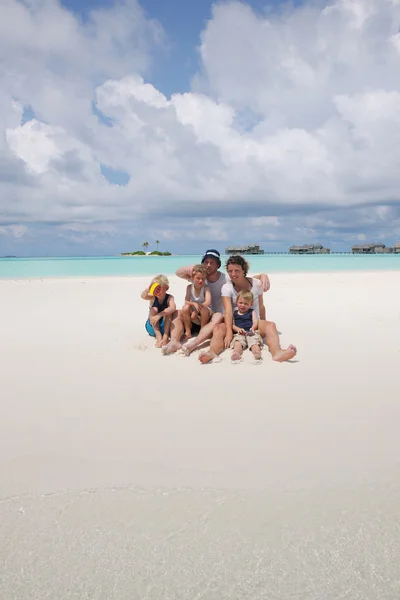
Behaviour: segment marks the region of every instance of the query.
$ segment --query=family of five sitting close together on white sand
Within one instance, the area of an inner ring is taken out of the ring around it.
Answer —
[[[275,323],[265,319],[263,293],[270,288],[268,276],[248,277],[249,264],[242,256],[231,256],[225,266],[227,275],[219,271],[220,253],[211,249],[201,264],[178,269],[176,275],[190,282],[181,310],[168,293],[168,278],[157,275],[152,279],[141,296],[150,301],[146,330],[156,338],[156,346],[163,354],[180,350],[189,356],[210,340],[209,350],[199,357],[203,364],[217,358],[224,348],[232,348],[233,362],[240,361],[243,350],[249,348],[258,363],[265,340],[273,360],[293,358],[296,347],[291,344],[282,349]]]

